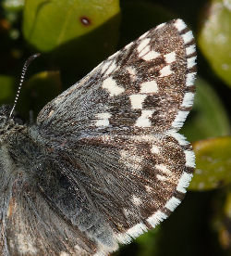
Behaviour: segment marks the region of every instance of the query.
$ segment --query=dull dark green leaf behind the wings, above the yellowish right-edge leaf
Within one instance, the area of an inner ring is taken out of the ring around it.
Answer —
[[[220,98],[201,78],[196,81],[196,86],[193,109],[181,133],[185,134],[189,141],[229,134],[230,123]]]

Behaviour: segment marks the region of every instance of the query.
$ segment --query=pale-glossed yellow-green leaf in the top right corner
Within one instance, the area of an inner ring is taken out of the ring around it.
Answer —
[[[213,0],[205,11],[199,46],[216,74],[231,86],[231,3]]]

